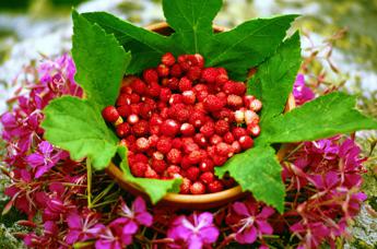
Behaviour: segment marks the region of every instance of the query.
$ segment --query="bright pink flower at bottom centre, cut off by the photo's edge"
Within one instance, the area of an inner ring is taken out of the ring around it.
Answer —
[[[197,215],[193,213],[188,218],[180,215],[174,220],[167,232],[167,237],[174,239],[173,248],[185,245],[189,249],[202,248],[217,240],[219,229],[213,225],[213,215],[209,212]]]

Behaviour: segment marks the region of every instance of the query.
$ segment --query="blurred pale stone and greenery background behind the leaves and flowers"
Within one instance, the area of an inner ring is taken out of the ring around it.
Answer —
[[[72,7],[79,12],[107,11],[139,25],[164,20],[161,0],[0,0],[0,114],[23,67],[70,50]],[[307,83],[358,94],[360,107],[377,117],[377,0],[224,0],[215,24],[233,27],[286,13],[302,14],[294,26],[301,29],[303,56],[310,67]],[[368,138],[377,144],[376,132]],[[365,191],[377,211],[375,170],[366,178]],[[1,247],[9,245],[1,242],[8,233],[1,223],[7,221],[0,216],[0,248],[10,248]],[[357,248],[377,245],[376,217],[362,214],[354,229],[361,238]]]

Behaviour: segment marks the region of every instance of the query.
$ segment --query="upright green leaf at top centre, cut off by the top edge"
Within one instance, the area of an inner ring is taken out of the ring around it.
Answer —
[[[222,7],[222,0],[164,0],[167,23],[175,31],[174,44],[186,54],[202,52],[212,37],[212,21]]]

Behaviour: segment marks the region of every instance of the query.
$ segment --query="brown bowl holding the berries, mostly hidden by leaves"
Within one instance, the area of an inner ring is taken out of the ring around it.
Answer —
[[[169,35],[173,33],[173,29],[167,25],[167,23],[157,23],[146,27],[150,31],[156,32],[162,35]],[[213,26],[215,33],[226,31],[225,27]],[[249,75],[252,75],[250,71]],[[123,84],[127,84],[127,80],[123,81]],[[288,111],[295,107],[295,99],[291,94],[287,103],[285,105],[285,111]],[[278,151],[276,156],[279,161],[282,161],[284,155],[287,153],[286,146],[281,146]],[[118,166],[110,163],[106,168],[106,173],[111,176],[115,181],[125,190],[134,195],[142,195],[145,200],[150,200],[148,194],[138,186],[126,181],[123,178],[123,173]],[[170,206],[175,209],[184,210],[209,210],[213,208],[219,208],[225,205],[232,201],[235,201],[244,197],[246,192],[243,192],[240,186],[233,187],[231,189],[223,190],[216,193],[205,193],[205,194],[180,194],[180,193],[167,193],[157,205]]]

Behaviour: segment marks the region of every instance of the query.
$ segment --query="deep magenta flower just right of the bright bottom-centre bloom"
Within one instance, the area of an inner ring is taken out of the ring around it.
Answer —
[[[268,217],[274,213],[269,206],[263,206],[259,212],[259,204],[254,200],[245,202],[235,202],[226,223],[236,232],[236,241],[239,244],[252,244],[257,237],[262,238],[263,235],[271,235],[273,229],[268,223]]]

